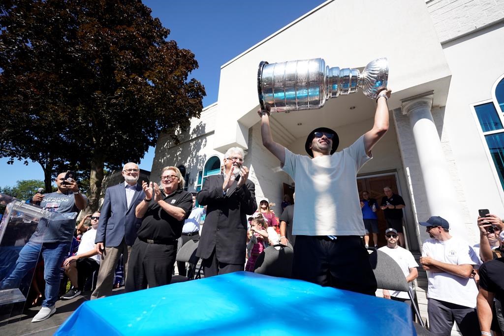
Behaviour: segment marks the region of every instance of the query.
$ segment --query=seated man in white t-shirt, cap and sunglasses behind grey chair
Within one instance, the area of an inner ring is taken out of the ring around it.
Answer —
[[[410,251],[398,245],[399,236],[396,229],[389,228],[385,230],[385,237],[387,238],[387,246],[380,247],[379,250],[390,255],[390,257],[397,262],[406,277],[409,288],[413,291],[411,282],[418,278],[418,271],[416,269],[416,267],[418,267],[418,263],[416,263],[415,257]],[[390,291],[384,289],[383,297],[386,299],[406,302],[411,307],[412,302],[406,292],[393,291],[391,293]]]

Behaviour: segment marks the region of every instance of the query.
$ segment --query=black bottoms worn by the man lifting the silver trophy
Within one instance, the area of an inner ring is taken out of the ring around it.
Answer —
[[[374,296],[376,279],[359,236],[296,236],[292,277]]]

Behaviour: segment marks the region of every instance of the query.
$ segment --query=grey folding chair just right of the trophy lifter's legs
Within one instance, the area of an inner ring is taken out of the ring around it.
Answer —
[[[392,259],[387,253],[375,250],[369,254],[369,262],[373,268],[374,277],[376,278],[377,287],[381,289],[388,289],[391,291],[407,292],[411,300],[411,306],[415,311],[419,324],[413,322],[418,335],[429,335],[429,331],[425,329],[418,305],[414,299],[413,292],[406,282],[404,273],[397,262]]]

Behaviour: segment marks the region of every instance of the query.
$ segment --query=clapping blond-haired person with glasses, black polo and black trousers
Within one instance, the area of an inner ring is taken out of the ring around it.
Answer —
[[[193,208],[193,196],[183,190],[185,181],[178,168],[163,168],[159,178],[159,185],[142,183],[145,198],[135,215],[143,220],[131,251],[126,292],[171,282],[177,239]]]

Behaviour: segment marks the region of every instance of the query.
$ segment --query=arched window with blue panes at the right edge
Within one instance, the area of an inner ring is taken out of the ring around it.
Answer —
[[[493,99],[474,105],[500,184],[504,189],[504,75],[492,89]]]

